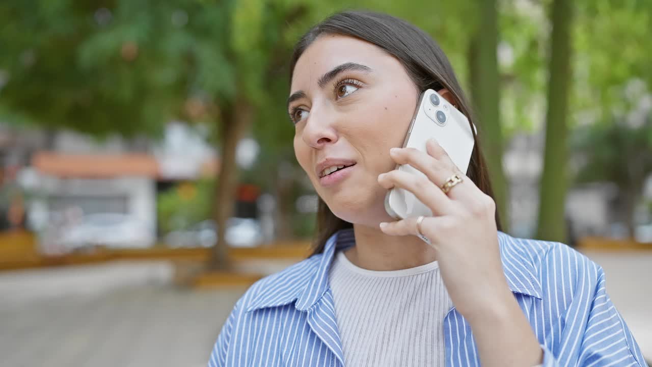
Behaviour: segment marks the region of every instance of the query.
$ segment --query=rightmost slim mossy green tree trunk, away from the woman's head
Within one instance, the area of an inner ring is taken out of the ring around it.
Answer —
[[[571,82],[571,0],[554,0],[546,112],[546,146],[539,198],[537,238],[566,242],[567,116]]]

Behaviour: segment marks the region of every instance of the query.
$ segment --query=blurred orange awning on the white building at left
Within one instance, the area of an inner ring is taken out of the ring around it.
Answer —
[[[194,174],[184,177],[170,177],[160,167],[154,155],[143,153],[123,154],[78,154],[59,152],[37,152],[32,157],[32,166],[39,172],[65,178],[115,178],[119,176],[141,176],[155,180],[194,179],[215,175],[218,162],[211,159],[199,165]]]

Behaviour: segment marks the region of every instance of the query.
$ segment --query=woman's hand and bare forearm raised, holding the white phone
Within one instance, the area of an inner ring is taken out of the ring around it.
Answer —
[[[413,193],[432,211],[421,223],[421,234],[437,252],[441,278],[456,309],[469,321],[482,366],[533,366],[542,351],[503,274],[496,229],[496,204],[452,163],[434,139],[427,154],[393,148],[396,163],[409,164],[427,178],[392,170],[378,176],[390,189]],[[441,186],[453,174],[462,177],[448,194]],[[417,235],[417,218],[381,223],[394,236]]]

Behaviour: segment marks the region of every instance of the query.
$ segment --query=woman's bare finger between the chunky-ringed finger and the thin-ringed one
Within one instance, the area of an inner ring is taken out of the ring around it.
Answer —
[[[452,200],[424,176],[417,176],[402,170],[391,170],[380,174],[378,183],[385,189],[398,187],[408,190],[428,206],[434,215],[450,214],[453,211]]]

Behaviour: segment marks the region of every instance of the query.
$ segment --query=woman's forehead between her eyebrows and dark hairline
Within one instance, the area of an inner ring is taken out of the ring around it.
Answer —
[[[374,72],[402,69],[398,60],[370,42],[343,35],[321,35],[297,60],[291,92],[316,88],[319,76],[343,63],[366,65]]]

